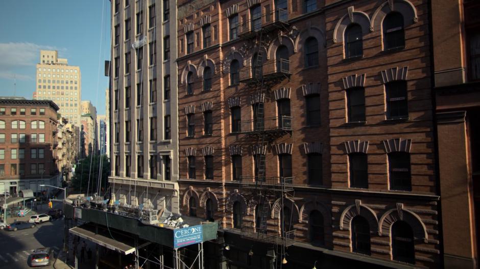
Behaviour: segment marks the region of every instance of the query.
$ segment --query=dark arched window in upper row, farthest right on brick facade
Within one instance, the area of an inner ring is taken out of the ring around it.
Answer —
[[[399,12],[390,12],[382,23],[383,49],[401,48],[405,46],[403,16]]]

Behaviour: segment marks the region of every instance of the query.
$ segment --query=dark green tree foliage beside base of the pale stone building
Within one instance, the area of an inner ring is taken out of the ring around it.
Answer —
[[[100,168],[100,160],[102,160],[102,171]],[[74,193],[88,193],[89,195],[97,193],[99,173],[102,173],[101,177],[101,193],[104,194],[105,190],[108,189],[108,175],[110,174],[110,160],[107,155],[93,155],[87,156],[85,159],[80,160],[80,163],[75,169],[75,175],[71,179],[70,187],[73,189]],[[90,184],[88,184],[90,182]]]

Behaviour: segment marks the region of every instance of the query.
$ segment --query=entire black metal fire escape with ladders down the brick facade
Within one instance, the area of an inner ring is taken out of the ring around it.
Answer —
[[[286,248],[294,243],[295,231],[287,230],[284,227],[284,217],[279,217],[275,227],[281,227],[281,232],[276,229],[268,229],[268,221],[271,205],[275,201],[281,202],[281,213],[283,215],[283,200],[294,197],[293,177],[266,176],[266,149],[272,142],[283,137],[292,137],[291,116],[265,118],[266,98],[270,98],[272,87],[279,86],[284,79],[290,79],[289,59],[270,59],[265,52],[269,41],[276,36],[278,31],[285,31],[288,23],[288,12],[283,9],[276,9],[272,12],[255,14],[251,10],[251,19],[241,22],[238,36],[246,41],[254,42],[253,57],[250,65],[239,71],[239,80],[244,83],[247,89],[254,93],[253,119],[240,122],[239,130],[256,141],[257,149],[255,154],[255,173],[242,175],[240,177],[239,189],[242,193],[256,197],[257,209],[255,212],[255,225],[251,227],[242,223],[242,236],[244,238],[261,241],[272,245],[277,257],[276,266],[281,267],[279,261],[285,263]],[[273,210],[273,208],[272,208]],[[291,216],[289,216],[291,219]],[[290,227],[290,225],[289,225]],[[282,260],[283,259],[283,260]]]

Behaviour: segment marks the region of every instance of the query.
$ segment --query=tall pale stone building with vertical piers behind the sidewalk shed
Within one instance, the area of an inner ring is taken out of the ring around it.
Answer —
[[[166,212],[179,208],[176,10],[112,1],[110,186],[122,203]]]

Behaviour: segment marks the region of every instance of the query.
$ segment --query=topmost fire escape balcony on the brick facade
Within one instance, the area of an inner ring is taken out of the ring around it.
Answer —
[[[261,13],[249,20],[244,20],[238,25],[238,37],[249,39],[255,37],[260,30],[271,31],[280,29],[289,24],[289,12],[284,9],[276,9]]]

